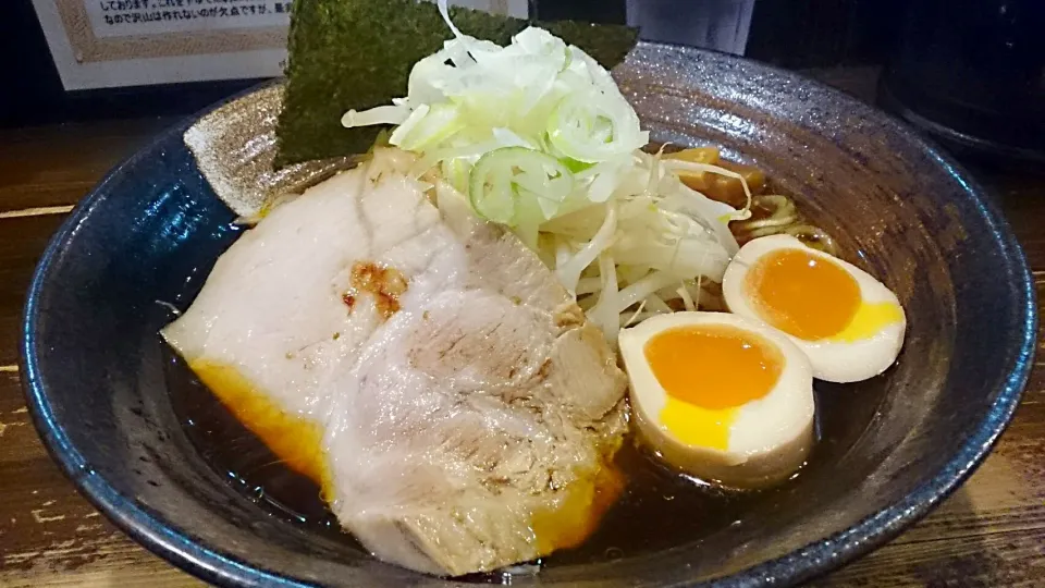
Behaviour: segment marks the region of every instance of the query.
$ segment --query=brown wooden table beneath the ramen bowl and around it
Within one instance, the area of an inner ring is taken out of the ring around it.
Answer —
[[[866,94],[866,72],[825,75]],[[0,586],[200,583],[110,525],[59,473],[19,382],[24,294],[50,235],[114,163],[170,120],[0,131]],[[1045,177],[980,173],[1045,283]],[[1045,339],[1041,344],[1045,348]],[[1045,356],[1043,356],[1045,357]],[[1045,369],[998,448],[942,507],[817,586],[1045,586]]]

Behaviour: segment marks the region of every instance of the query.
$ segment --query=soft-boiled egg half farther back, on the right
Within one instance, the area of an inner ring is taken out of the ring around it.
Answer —
[[[903,345],[907,319],[896,294],[789,235],[745,244],[726,268],[722,293],[733,313],[786,333],[821,380],[877,376]]]

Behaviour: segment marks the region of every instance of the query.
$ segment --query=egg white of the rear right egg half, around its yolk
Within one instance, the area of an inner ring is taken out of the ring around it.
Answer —
[[[748,293],[748,271],[765,255],[795,248],[834,261],[849,272],[860,286],[860,295],[864,303],[892,303],[900,311],[899,321],[886,324],[872,336],[860,341],[831,339],[809,341],[784,333],[809,356],[813,366],[813,376],[828,382],[857,382],[873,378],[888,369],[899,356],[900,348],[903,346],[903,334],[907,331],[907,318],[896,294],[862,269],[844,259],[808,247],[790,235],[755,238],[740,248],[726,268],[722,280],[722,293],[729,310],[772,329],[773,327],[758,313],[755,303]]]

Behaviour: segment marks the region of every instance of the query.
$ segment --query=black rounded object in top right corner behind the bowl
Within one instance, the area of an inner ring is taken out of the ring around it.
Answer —
[[[952,150],[1045,163],[1045,2],[912,2],[878,97]]]

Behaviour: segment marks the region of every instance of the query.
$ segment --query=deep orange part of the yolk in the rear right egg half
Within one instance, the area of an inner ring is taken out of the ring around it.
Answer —
[[[863,302],[852,274],[802,249],[762,256],[748,272],[747,289],[766,322],[807,341],[845,331]]]

